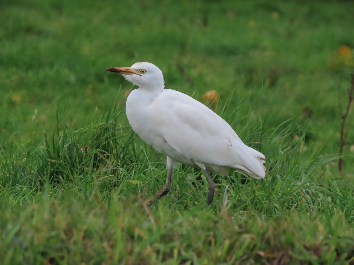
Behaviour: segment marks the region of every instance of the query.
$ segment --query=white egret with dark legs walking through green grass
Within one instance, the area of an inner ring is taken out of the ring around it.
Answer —
[[[138,86],[126,102],[132,129],[156,151],[167,155],[165,186],[155,196],[165,196],[171,187],[172,169],[177,163],[199,167],[209,183],[210,205],[215,183],[208,171],[225,175],[229,168],[254,178],[265,177],[264,155],[246,146],[231,126],[210,108],[190,96],[165,88],[161,70],[151,63],[112,67]]]

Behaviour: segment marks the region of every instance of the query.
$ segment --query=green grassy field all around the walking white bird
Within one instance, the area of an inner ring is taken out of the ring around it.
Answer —
[[[0,4],[1,264],[354,264],[351,1]],[[265,154],[268,174],[178,166],[125,116],[107,67],[149,61]]]

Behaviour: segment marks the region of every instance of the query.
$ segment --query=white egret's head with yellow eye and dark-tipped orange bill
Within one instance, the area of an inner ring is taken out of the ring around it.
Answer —
[[[139,62],[131,67],[111,67],[106,71],[120,73],[139,88],[163,89],[165,87],[162,71],[152,63]]]

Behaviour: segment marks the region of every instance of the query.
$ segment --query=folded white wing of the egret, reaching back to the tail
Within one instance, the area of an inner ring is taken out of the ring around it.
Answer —
[[[166,90],[155,103],[164,106],[156,116],[163,137],[184,157],[239,168],[254,177],[265,175],[264,155],[246,146],[231,126],[204,104],[175,90]]]

